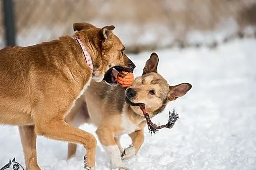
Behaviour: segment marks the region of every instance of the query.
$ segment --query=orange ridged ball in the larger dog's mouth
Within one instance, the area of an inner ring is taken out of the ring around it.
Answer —
[[[117,71],[113,68],[113,79],[115,79],[122,87],[128,87],[133,84],[134,76],[131,72]]]

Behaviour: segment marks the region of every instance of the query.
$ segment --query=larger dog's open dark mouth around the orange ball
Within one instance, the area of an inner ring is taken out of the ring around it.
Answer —
[[[117,76],[122,72],[122,71],[127,71],[133,73],[133,69],[131,68],[124,68],[121,66],[115,66],[110,68],[104,75],[103,80],[110,84],[110,85],[115,85],[117,84]]]

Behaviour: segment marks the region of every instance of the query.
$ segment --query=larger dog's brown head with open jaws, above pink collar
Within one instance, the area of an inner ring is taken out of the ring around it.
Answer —
[[[112,33],[115,26],[97,28],[89,23],[74,23],[76,36],[87,45],[93,63],[92,78],[100,82],[105,80],[108,84],[117,82],[111,78],[112,69],[133,72],[134,63],[124,53],[125,47],[119,38]]]

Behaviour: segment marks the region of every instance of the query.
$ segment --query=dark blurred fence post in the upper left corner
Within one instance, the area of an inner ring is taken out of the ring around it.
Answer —
[[[16,45],[16,28],[13,10],[13,0],[2,0],[6,46]]]

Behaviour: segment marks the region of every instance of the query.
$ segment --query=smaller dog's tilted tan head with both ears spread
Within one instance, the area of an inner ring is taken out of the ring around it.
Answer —
[[[165,109],[168,102],[185,95],[192,87],[188,83],[168,85],[167,81],[157,74],[158,56],[152,53],[146,61],[143,75],[135,79],[134,84],[126,89],[126,102],[132,110],[143,116],[137,103],[144,103],[150,117]]]

